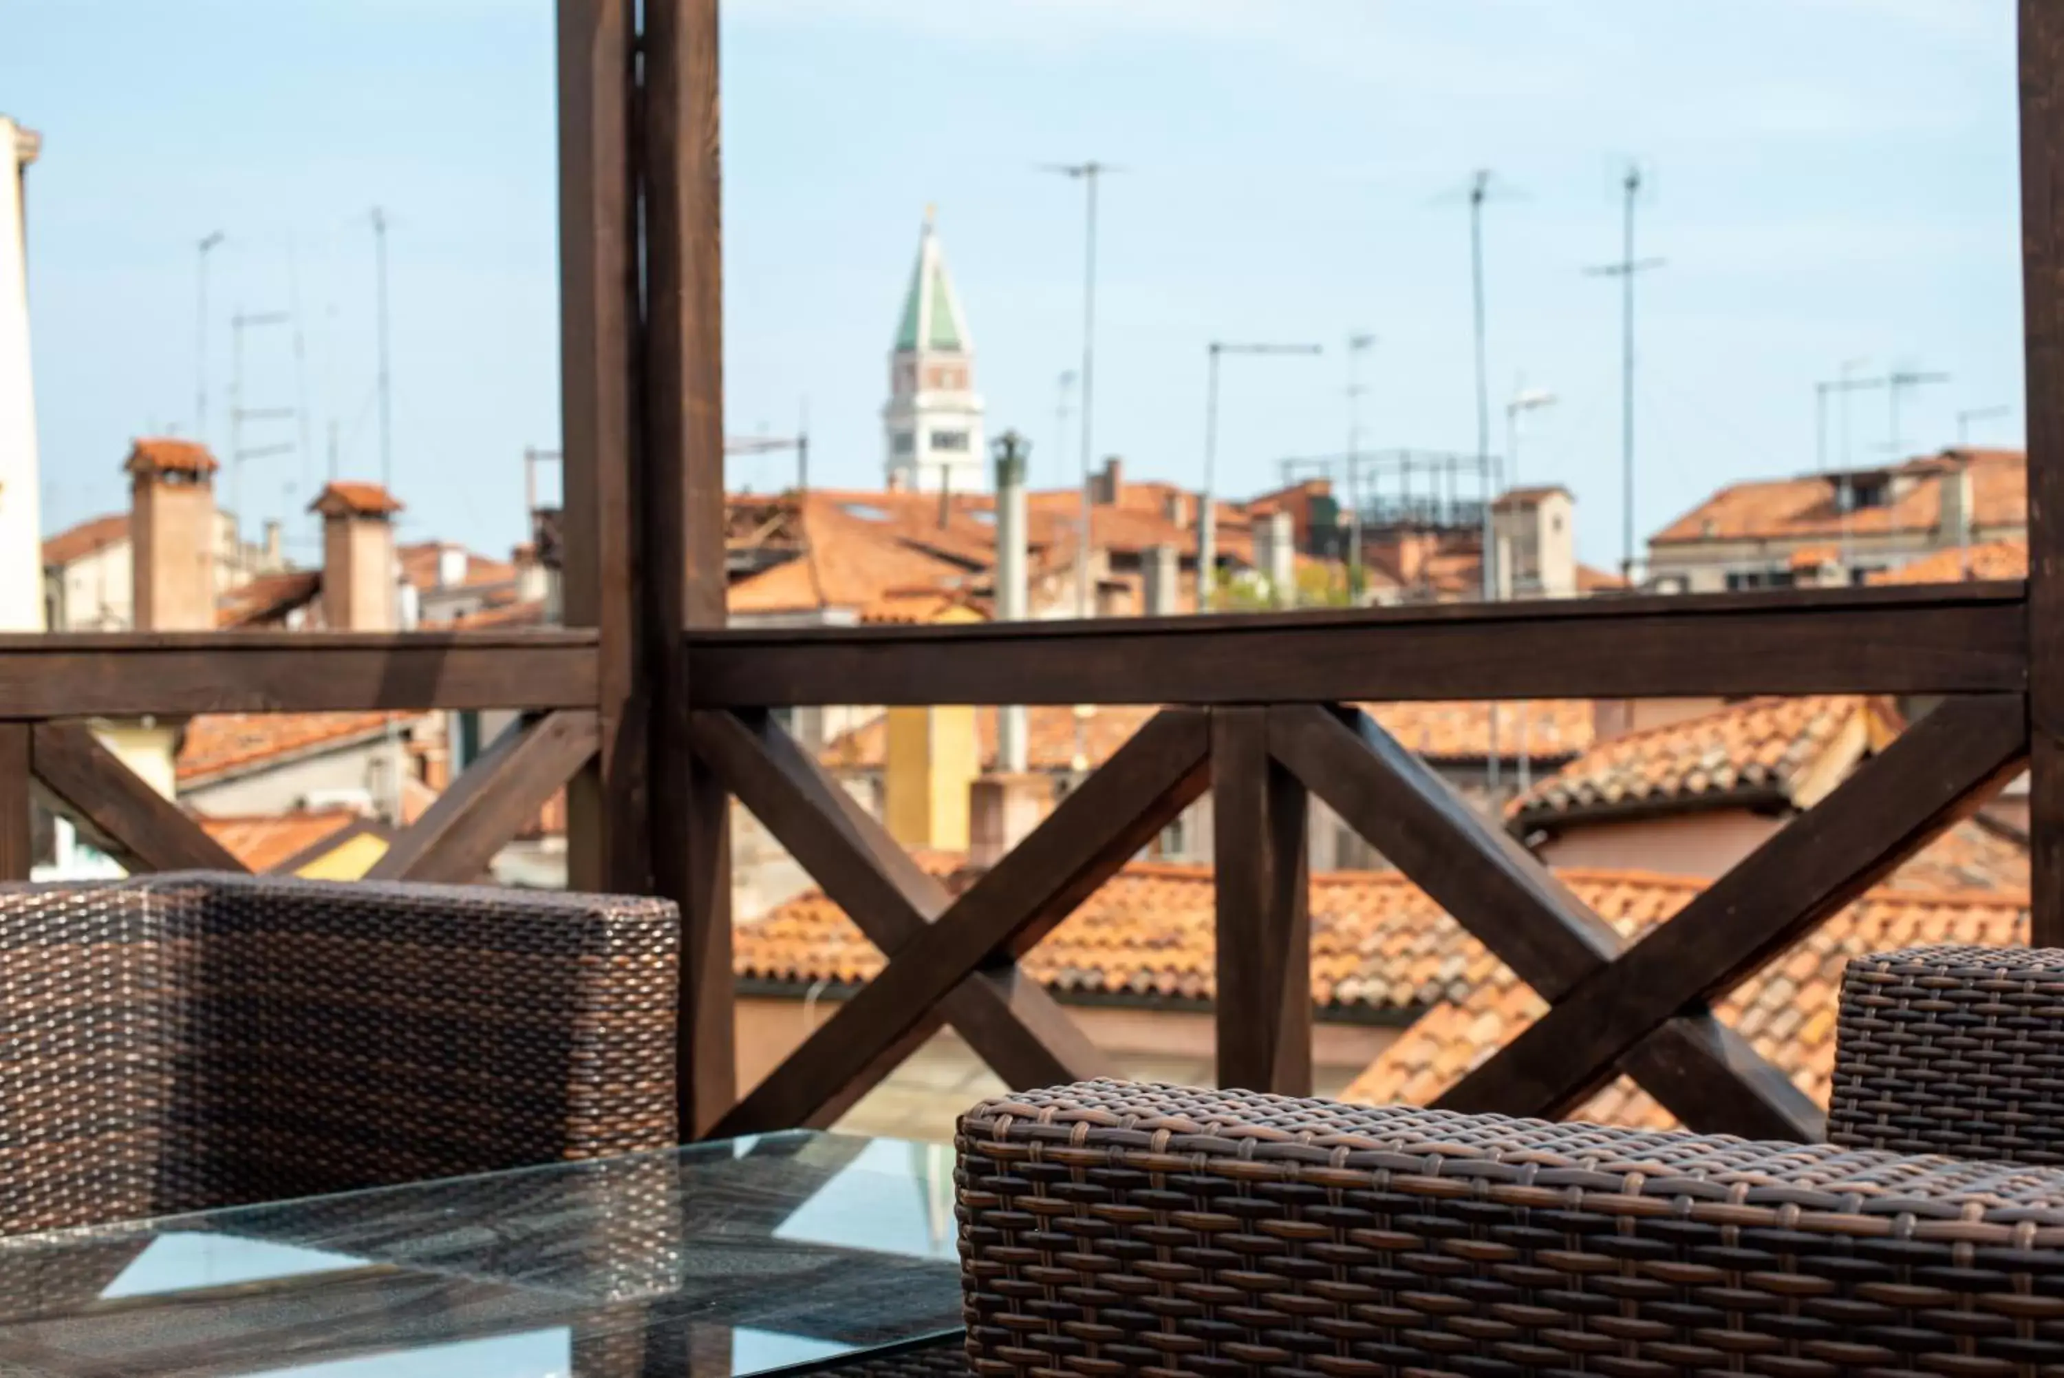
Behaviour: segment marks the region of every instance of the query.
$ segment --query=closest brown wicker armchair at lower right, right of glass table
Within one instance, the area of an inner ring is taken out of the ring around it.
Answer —
[[[2064,1132],[2064,952],[1864,959],[1841,1016],[1831,1145],[1123,1083],[985,1103],[970,1366],[2060,1372],[2064,1171],[2023,1163]]]

